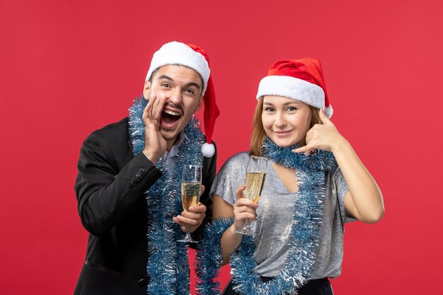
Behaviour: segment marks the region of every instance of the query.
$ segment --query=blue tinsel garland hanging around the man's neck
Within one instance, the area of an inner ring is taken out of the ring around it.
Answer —
[[[134,155],[144,149],[143,110],[147,101],[143,96],[134,99],[130,108],[130,138]],[[150,281],[148,294],[188,295],[189,262],[188,248],[176,242],[183,238],[180,226],[171,221],[173,216],[183,211],[181,204],[181,173],[184,165],[202,165],[201,146],[205,138],[200,130],[200,122],[193,118],[183,132],[183,142],[178,146],[176,166],[173,173],[168,170],[163,158],[156,167],[163,175],[146,192],[148,208],[148,251],[150,256],[146,270]]]

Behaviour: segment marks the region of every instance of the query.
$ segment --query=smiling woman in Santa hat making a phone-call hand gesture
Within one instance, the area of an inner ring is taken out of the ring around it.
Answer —
[[[251,151],[229,158],[212,185],[219,219],[197,254],[198,288],[214,294],[214,268],[231,263],[224,294],[333,294],[328,277],[341,272],[343,226],[379,221],[381,192],[329,120],[317,59],[276,62],[257,98]],[[250,154],[268,158],[259,203],[243,198]],[[246,219],[253,238],[236,233]]]

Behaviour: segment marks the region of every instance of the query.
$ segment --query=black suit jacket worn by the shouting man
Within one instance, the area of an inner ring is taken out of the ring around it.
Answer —
[[[217,154],[204,158],[203,163],[206,189],[200,202],[207,207],[205,222],[212,212],[209,188],[216,158]],[[160,170],[144,154],[132,154],[127,118],[93,132],[84,141],[74,188],[81,222],[90,234],[74,294],[146,295],[149,253],[144,192],[160,177]]]

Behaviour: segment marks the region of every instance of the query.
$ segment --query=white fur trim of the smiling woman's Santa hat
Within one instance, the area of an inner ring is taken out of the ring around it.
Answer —
[[[315,108],[323,108],[328,117],[332,115],[332,106],[325,108],[325,93],[320,86],[291,76],[265,76],[258,86],[257,100],[261,96],[292,98]]]

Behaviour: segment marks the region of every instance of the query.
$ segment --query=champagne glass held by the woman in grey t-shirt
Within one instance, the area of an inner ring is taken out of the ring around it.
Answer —
[[[246,190],[243,191],[243,197],[258,202],[265,183],[267,168],[267,158],[260,156],[249,156],[248,168],[246,168]],[[245,220],[243,229],[236,229],[237,233],[253,235],[249,220]]]

